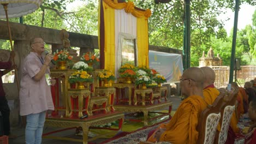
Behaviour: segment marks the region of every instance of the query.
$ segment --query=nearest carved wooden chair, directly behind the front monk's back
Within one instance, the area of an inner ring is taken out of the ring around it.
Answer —
[[[199,131],[197,143],[214,143],[214,137],[221,117],[220,110],[223,106],[224,95],[225,93],[220,93],[213,104],[208,105],[202,111],[199,125],[197,125],[197,131]]]

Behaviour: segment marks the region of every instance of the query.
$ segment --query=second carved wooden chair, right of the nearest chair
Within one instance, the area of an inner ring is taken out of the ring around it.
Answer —
[[[224,98],[224,104],[220,111],[220,131],[217,131],[214,143],[223,144],[226,142],[232,113],[235,112],[236,109],[237,94],[238,89],[235,89],[230,96]]]

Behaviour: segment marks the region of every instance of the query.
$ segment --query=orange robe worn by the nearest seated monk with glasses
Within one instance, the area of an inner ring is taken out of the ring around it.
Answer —
[[[160,136],[160,141],[171,143],[197,143],[199,132],[196,130],[201,112],[206,109],[206,102],[198,95],[192,95],[182,101],[176,113],[167,124],[161,124],[160,128],[166,131]],[[155,133],[148,141],[155,142]]]

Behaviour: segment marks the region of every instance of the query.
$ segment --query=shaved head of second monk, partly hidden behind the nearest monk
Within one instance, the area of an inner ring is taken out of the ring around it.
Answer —
[[[212,85],[215,81],[214,70],[210,67],[201,67],[200,69],[203,71],[203,73],[205,73],[205,81],[203,83],[203,87]]]

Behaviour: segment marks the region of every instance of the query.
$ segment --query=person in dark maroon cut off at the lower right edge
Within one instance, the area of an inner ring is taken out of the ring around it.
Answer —
[[[246,134],[245,144],[254,144],[256,143],[256,99],[250,102],[248,115],[252,120],[252,124],[248,130],[248,134]]]

